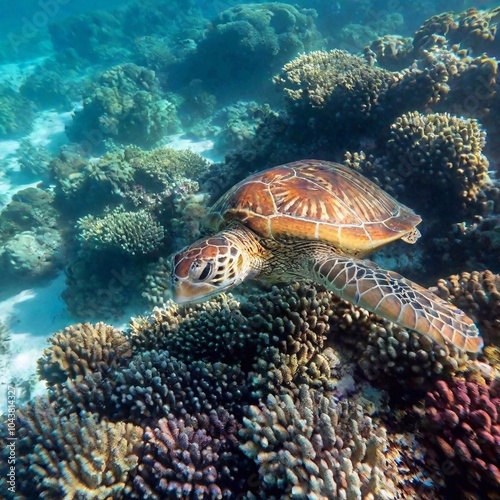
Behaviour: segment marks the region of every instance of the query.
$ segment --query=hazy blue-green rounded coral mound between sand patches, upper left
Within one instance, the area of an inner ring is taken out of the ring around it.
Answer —
[[[162,97],[154,71],[128,63],[102,73],[66,132],[95,148],[106,138],[152,146],[177,129],[175,105]]]

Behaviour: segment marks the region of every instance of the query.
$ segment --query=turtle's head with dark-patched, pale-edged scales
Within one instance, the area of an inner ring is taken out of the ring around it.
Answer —
[[[241,238],[229,231],[203,238],[172,258],[174,300],[199,302],[255,276],[253,258]]]

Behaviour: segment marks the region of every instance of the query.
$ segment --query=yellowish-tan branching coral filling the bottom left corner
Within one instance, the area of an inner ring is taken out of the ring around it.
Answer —
[[[19,409],[17,424],[14,492],[7,489],[9,449],[2,446],[4,498],[119,498],[131,491],[140,427],[98,421],[88,412],[60,416],[43,399]]]

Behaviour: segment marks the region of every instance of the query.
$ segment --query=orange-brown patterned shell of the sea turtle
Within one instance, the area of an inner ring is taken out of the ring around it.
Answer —
[[[421,218],[355,170],[302,160],[251,175],[212,207],[206,225],[238,220],[265,238],[321,240],[363,256],[391,241],[418,237]]]

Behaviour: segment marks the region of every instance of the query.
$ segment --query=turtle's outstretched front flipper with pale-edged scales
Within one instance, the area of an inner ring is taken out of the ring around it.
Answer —
[[[342,299],[426,335],[443,347],[451,344],[478,352],[483,346],[476,325],[463,311],[373,262],[330,255],[314,263],[313,275]]]

